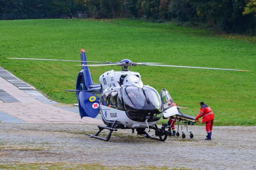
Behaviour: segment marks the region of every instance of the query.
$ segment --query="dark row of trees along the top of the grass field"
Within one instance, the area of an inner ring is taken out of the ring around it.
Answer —
[[[0,0],[0,19],[146,18],[256,32],[256,0]]]

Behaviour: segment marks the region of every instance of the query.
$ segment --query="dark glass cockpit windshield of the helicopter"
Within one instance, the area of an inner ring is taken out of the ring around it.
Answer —
[[[158,110],[161,112],[161,101],[158,92],[151,87],[138,88],[126,86],[121,89],[126,110]]]

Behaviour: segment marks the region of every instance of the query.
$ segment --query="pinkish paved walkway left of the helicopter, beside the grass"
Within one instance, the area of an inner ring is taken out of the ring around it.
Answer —
[[[52,104],[57,103],[48,100],[41,93],[35,90],[20,90],[2,77],[0,77],[0,89],[18,100],[12,103],[3,102],[0,99],[0,121],[2,123],[103,124],[101,118],[84,117],[81,119],[77,113],[78,107],[63,109],[53,106]],[[46,99],[46,101],[40,101],[39,98]]]

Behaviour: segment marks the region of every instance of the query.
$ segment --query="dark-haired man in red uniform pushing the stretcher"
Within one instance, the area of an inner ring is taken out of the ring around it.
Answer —
[[[200,113],[196,117],[196,119],[193,122],[196,122],[200,117],[203,117],[202,123],[205,122],[205,128],[207,132],[207,138],[205,140],[212,140],[212,126],[213,126],[213,120],[214,120],[214,113],[212,112],[211,107],[209,107],[207,104],[204,104],[204,102],[200,103],[201,109]]]

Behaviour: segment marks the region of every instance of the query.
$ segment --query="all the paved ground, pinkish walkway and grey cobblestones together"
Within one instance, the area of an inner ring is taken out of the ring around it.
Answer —
[[[1,77],[0,89],[19,101],[0,101],[0,165],[15,167],[21,163],[65,162],[70,167],[71,164],[100,164],[142,166],[139,169],[147,169],[150,165],[256,169],[255,127],[214,127],[213,139],[205,141],[204,126],[189,126],[193,139],[187,133],[185,139],[168,137],[165,142],[119,129],[105,142],[85,135],[95,134],[96,124],[102,124],[101,119],[81,119],[77,107],[63,109],[53,106],[53,101],[41,102],[42,99],[35,99],[38,96],[16,88]],[[104,130],[102,134],[107,132]]]

